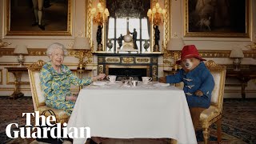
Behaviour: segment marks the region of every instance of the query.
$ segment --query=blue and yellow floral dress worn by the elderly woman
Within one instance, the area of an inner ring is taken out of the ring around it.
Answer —
[[[71,96],[71,84],[74,84],[75,86],[89,85],[93,82],[93,79],[80,79],[65,65],[61,66],[61,72],[58,73],[54,70],[51,62],[47,62],[42,66],[40,81],[46,98],[46,106],[62,109],[66,111],[66,114],[70,115],[75,102],[66,101],[65,97]]]

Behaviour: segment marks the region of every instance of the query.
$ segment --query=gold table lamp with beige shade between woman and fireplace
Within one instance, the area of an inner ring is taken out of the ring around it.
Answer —
[[[85,63],[83,59],[86,58],[86,50],[90,50],[90,42],[88,38],[76,37],[74,38],[74,50],[78,50],[78,53],[75,54],[76,58],[79,58],[78,69],[84,70]]]

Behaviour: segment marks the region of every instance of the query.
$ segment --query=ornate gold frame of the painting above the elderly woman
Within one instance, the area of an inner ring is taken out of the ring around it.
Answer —
[[[67,15],[67,23],[66,30],[64,31],[49,31],[49,30],[10,30],[10,0],[6,0],[6,35],[39,35],[39,36],[69,36],[72,34],[72,1],[67,1],[68,6],[68,15]]]

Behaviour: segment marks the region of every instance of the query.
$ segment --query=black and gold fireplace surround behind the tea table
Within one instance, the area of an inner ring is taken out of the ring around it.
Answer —
[[[142,76],[158,80],[158,57],[162,54],[95,54],[98,56],[98,74],[109,74],[110,68],[146,69]]]

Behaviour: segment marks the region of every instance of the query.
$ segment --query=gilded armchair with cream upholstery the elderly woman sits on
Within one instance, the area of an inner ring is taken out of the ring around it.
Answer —
[[[45,63],[46,62],[43,62],[42,60],[38,60],[38,62],[35,62],[28,67],[34,111],[39,111],[39,114],[42,114],[42,111],[44,110],[53,110],[56,114],[57,122],[68,122],[70,117],[64,110],[58,110],[46,106],[44,92],[41,89],[39,78],[40,70]],[[48,116],[47,114],[48,113],[46,113],[46,116]]]

